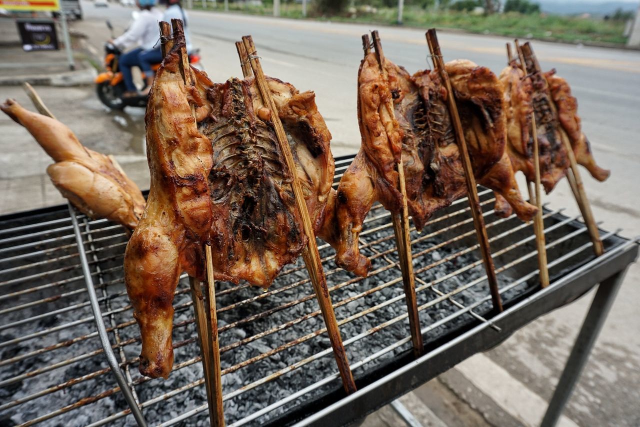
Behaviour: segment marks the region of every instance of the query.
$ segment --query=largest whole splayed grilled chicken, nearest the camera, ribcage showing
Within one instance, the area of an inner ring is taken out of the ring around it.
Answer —
[[[187,87],[179,46],[164,58],[150,91],[151,190],[125,253],[142,337],[140,372],[148,377],[166,378],[172,369],[173,294],[182,272],[204,278],[204,244],[211,244],[216,279],[266,288],[306,243],[292,173],[316,228],[333,182],[331,135],[314,93],[268,78],[296,161],[289,171],[253,79],[214,84],[191,68],[196,84]]]

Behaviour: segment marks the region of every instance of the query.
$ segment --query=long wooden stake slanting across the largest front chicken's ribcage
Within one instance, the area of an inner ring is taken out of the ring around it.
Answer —
[[[257,56],[255,45],[251,36],[244,36],[242,38],[244,43],[244,49],[248,54],[249,63],[255,75],[255,82],[258,85],[262,102],[266,107],[271,110],[271,120],[273,122],[273,128],[278,138],[278,144],[280,144],[280,150],[287,163],[287,169],[291,173],[291,187],[296,199],[296,205],[298,206],[298,212],[302,219],[304,233],[307,236],[307,246],[303,249],[302,256],[307,265],[309,277],[313,284],[314,291],[316,292],[316,298],[318,304],[323,313],[324,323],[333,347],[333,355],[335,361],[338,364],[338,370],[340,371],[340,377],[342,377],[342,385],[344,390],[350,394],[356,391],[356,385],[353,381],[353,374],[351,368],[349,368],[349,362],[347,361],[347,355],[344,351],[344,345],[342,344],[342,337],[340,336],[340,329],[338,323],[335,320],[335,313],[333,312],[333,305],[329,290],[326,286],[326,277],[324,277],[324,270],[320,260],[320,254],[316,243],[316,235],[312,226],[311,219],[307,210],[307,203],[305,202],[305,196],[302,192],[300,180],[296,175],[296,164],[291,153],[291,147],[289,147],[289,141],[287,141],[287,135],[284,132],[280,118],[278,117],[278,109],[271,98],[271,91],[269,85],[262,72],[262,66],[260,65],[260,59]]]

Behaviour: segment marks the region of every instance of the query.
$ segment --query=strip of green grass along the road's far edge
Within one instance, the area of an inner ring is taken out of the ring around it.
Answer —
[[[358,2],[359,3],[359,2]],[[202,9],[202,3],[193,2],[194,8]],[[218,1],[217,7],[207,2],[207,10],[220,12],[223,3]],[[273,15],[271,3],[263,6],[248,6],[229,3],[230,12],[250,13],[252,15]],[[320,16],[314,13],[312,4],[307,6],[309,19],[332,20],[338,22],[358,22],[361,24],[395,25],[396,8],[378,8],[376,13],[358,13],[355,17],[344,15]],[[303,19],[302,6],[298,3],[282,3],[280,16]],[[493,34],[510,37],[536,38],[541,40],[560,40],[563,42],[597,42],[621,45],[626,42],[622,21],[602,20],[596,18],[577,18],[559,15],[520,15],[519,13],[500,13],[495,15],[476,16],[463,12],[429,12],[417,6],[404,9],[405,26],[438,27],[469,31],[471,33]]]

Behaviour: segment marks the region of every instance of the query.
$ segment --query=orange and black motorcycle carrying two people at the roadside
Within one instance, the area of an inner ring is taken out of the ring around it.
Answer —
[[[107,21],[107,26],[111,31],[111,38],[114,38],[111,22]],[[122,50],[113,43],[107,42],[104,45],[104,54],[104,66],[106,71],[100,73],[95,78],[96,91],[102,104],[113,110],[122,110],[127,106],[146,107],[147,95],[139,95],[136,97],[122,96],[127,91],[124,84],[124,78],[122,77],[122,72],[120,72],[120,68],[118,67],[118,59],[120,58],[120,55],[122,55]],[[189,63],[195,68],[202,70],[200,58],[200,49],[195,49],[192,52],[189,52]],[[160,64],[157,63],[154,64],[151,69],[156,71],[159,67]],[[144,73],[142,77],[143,86],[141,90],[144,90],[147,88],[147,79],[145,79]]]

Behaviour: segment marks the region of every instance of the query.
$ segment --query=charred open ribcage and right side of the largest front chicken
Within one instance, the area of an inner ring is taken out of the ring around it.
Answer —
[[[211,139],[209,181],[214,205],[211,234],[216,277],[244,279],[267,288],[295,261],[307,238],[291,188],[298,175],[307,209],[319,228],[333,183],[331,134],[317,111],[315,94],[267,77],[296,170],[280,151],[270,112],[253,78],[230,79],[209,90],[212,113],[198,123]]]

